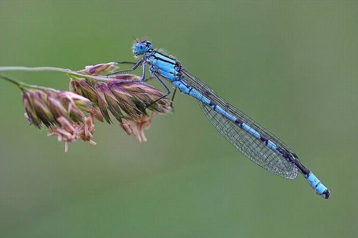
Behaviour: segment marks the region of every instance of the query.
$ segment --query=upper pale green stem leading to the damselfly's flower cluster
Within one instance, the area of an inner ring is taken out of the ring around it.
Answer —
[[[1,71],[34,71],[34,72],[54,71],[54,72],[61,72],[61,73],[68,74],[70,77],[76,76],[76,77],[80,77],[80,78],[92,80],[92,81],[108,80],[108,78],[105,76],[91,76],[91,75],[86,75],[86,74],[81,74],[81,73],[75,72],[71,69],[58,68],[58,67],[2,66],[2,67],[0,67],[0,72]]]

